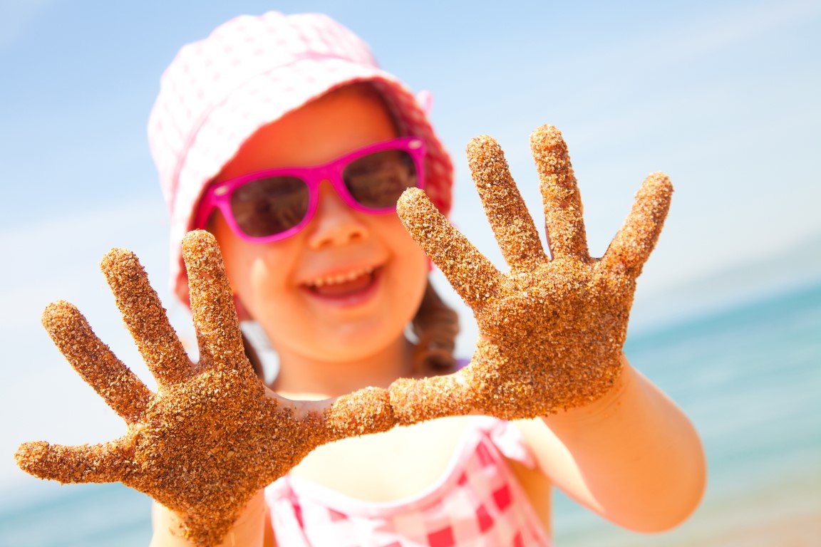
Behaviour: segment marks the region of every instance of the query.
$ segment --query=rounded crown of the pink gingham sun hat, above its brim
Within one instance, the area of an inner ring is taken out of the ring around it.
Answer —
[[[204,117],[255,76],[305,59],[378,66],[367,43],[328,16],[314,13],[237,16],[207,38],[181,48],[163,73],[149,116],[149,146],[171,211],[183,152]]]

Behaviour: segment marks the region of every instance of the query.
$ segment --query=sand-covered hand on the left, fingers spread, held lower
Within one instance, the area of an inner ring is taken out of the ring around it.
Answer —
[[[394,419],[385,390],[315,403],[287,401],[268,390],[245,357],[213,236],[187,235],[183,257],[200,362],[190,362],[137,258],[112,250],[103,271],[158,392],[117,359],[74,306],[53,303],[43,315],[49,335],[128,430],[91,446],[25,443],[16,458],[41,478],[121,481],[177,513],[188,540],[217,545],[253,495],[311,449],[388,430]]]

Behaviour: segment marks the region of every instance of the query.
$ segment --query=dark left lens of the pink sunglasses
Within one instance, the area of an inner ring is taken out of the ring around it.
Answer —
[[[308,212],[305,182],[292,176],[254,180],[234,190],[231,211],[245,235],[265,237],[290,230]]]

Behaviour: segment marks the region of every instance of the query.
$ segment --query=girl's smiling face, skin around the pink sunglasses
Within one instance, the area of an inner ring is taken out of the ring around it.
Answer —
[[[377,97],[342,89],[259,130],[218,180],[316,165],[396,136]],[[219,213],[212,223],[233,289],[283,364],[291,355],[355,360],[397,344],[427,282],[427,258],[396,214],[354,211],[327,181],[319,195],[308,226],[274,243],[238,238]]]

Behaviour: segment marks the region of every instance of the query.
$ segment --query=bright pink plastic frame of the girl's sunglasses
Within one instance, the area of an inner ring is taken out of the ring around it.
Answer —
[[[369,154],[386,152],[388,150],[399,150],[401,152],[408,153],[416,168],[415,188],[424,189],[424,140],[419,137],[399,137],[397,139],[385,140],[378,143],[369,144],[368,146],[362,148],[357,148],[350,153],[346,153],[331,162],[323,163],[322,165],[276,167],[273,169],[266,169],[264,171],[255,171],[253,173],[248,173],[246,175],[241,175],[233,179],[224,180],[213,184],[209,186],[209,189],[205,191],[205,194],[200,199],[200,207],[198,207],[198,212],[195,217],[194,228],[204,229],[204,227],[208,224],[209,217],[211,217],[214,209],[219,209],[220,212],[222,212],[222,217],[225,218],[232,231],[239,238],[244,239],[245,241],[264,244],[286,239],[305,228],[305,226],[307,226],[307,224],[314,217],[317,205],[319,204],[319,184],[323,180],[328,180],[339,197],[342,198],[342,201],[355,211],[367,212],[372,215],[396,212],[397,207],[395,204],[393,207],[374,209],[371,207],[365,207],[361,203],[357,202],[345,185],[345,180],[342,178],[343,171],[345,171],[345,168],[352,162],[355,162],[361,157],[368,156]],[[236,223],[234,213],[231,210],[232,194],[236,191],[236,189],[241,188],[244,185],[250,184],[256,180],[266,179],[273,176],[296,177],[305,183],[308,187],[308,208],[305,211],[305,217],[295,226],[292,226],[282,232],[278,232],[277,234],[264,235],[260,237],[247,235]]]

